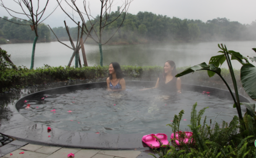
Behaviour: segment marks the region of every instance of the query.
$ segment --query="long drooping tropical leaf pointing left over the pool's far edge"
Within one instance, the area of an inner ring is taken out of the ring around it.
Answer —
[[[187,75],[191,72],[194,73],[197,70],[212,70],[212,71],[215,71],[218,74],[221,73],[221,69],[217,68],[214,64],[207,65],[206,63],[200,63],[198,65],[192,66],[192,67],[182,71],[181,73],[177,74],[175,77],[184,76],[184,75]],[[212,76],[209,76],[209,77],[212,77]]]

